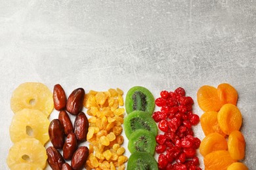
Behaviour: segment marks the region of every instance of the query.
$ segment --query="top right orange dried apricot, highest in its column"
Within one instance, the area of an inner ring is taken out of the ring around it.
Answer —
[[[217,93],[223,105],[226,103],[236,105],[236,102],[238,101],[238,92],[236,92],[236,89],[230,84],[219,84],[217,87]]]

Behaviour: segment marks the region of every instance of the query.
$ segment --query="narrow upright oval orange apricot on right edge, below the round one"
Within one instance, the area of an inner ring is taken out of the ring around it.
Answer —
[[[228,137],[228,152],[234,160],[244,158],[245,140],[240,131],[232,131]]]

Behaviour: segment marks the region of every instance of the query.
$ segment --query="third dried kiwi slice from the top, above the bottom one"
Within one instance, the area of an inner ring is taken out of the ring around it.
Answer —
[[[154,155],[156,148],[156,139],[152,132],[146,129],[138,129],[137,131],[131,133],[128,149],[133,154],[133,152],[148,152]]]

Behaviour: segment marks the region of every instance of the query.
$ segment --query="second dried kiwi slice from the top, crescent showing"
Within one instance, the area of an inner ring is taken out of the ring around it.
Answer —
[[[125,129],[125,135],[129,139],[131,133],[137,131],[138,129],[146,129],[147,131],[151,131],[156,137],[158,135],[158,126],[156,126],[156,122],[147,112],[135,110],[128,114],[123,122],[123,126]]]

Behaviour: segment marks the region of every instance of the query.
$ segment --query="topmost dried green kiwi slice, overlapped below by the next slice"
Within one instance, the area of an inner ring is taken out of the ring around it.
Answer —
[[[125,98],[125,110],[127,114],[134,110],[141,110],[152,115],[155,108],[155,99],[152,93],[141,86],[131,88]]]

